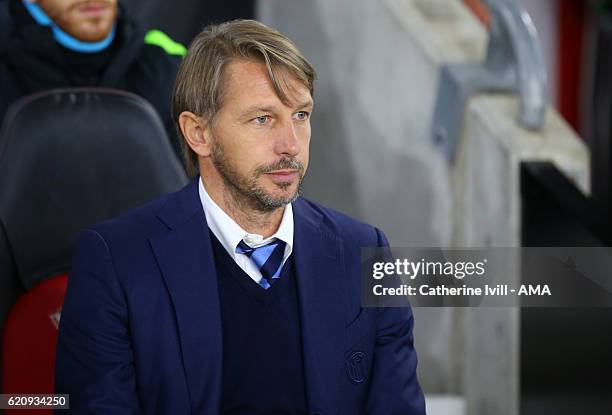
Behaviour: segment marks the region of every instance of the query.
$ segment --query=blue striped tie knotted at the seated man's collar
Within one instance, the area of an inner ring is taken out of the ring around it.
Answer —
[[[244,241],[240,241],[236,247],[236,253],[244,254],[259,268],[261,276],[259,281],[266,290],[280,277],[283,269],[283,257],[285,254],[285,242],[275,239],[269,244],[251,248]]]

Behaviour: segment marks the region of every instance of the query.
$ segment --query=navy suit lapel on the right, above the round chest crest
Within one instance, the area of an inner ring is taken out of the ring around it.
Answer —
[[[294,203],[294,255],[310,411],[335,414],[344,370],[344,279],[341,240],[325,231],[321,215]]]

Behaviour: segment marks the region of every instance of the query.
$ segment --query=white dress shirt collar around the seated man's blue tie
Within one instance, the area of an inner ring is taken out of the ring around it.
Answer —
[[[293,208],[291,204],[285,206],[283,218],[276,233],[269,238],[264,239],[262,235],[248,233],[240,227],[227,213],[223,211],[208,195],[204,188],[204,182],[200,177],[200,201],[206,215],[206,222],[212,233],[217,237],[227,253],[234,258],[236,264],[246,272],[253,281],[259,284],[261,281],[261,272],[259,268],[245,254],[236,253],[236,247],[240,241],[244,241],[251,248],[257,248],[261,245],[266,245],[274,239],[280,239],[285,242],[285,253],[283,255],[283,264],[293,251]]]

